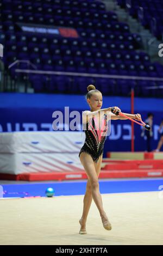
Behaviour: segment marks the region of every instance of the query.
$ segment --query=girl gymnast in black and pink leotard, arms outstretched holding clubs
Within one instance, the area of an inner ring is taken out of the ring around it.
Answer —
[[[83,126],[85,125],[85,142],[80,150],[79,158],[82,163],[88,180],[86,185],[86,192],[84,196],[83,215],[79,220],[80,231],[79,234],[87,234],[86,232],[86,220],[92,203],[92,198],[101,215],[103,227],[106,230],[111,230],[111,224],[103,209],[102,197],[99,192],[98,176],[101,170],[101,163],[103,158],[103,147],[106,138],[106,132],[108,130],[108,120],[110,119],[126,119],[115,115],[117,111],[121,112],[121,109],[114,107],[114,113],[111,113],[111,107],[103,108],[102,93],[95,88],[95,86],[87,87],[88,93],[86,94],[87,103],[90,106],[90,111],[83,112]],[[127,114],[135,120],[141,120],[140,114]],[[102,117],[102,118],[101,118]],[[103,127],[101,125],[103,123]]]

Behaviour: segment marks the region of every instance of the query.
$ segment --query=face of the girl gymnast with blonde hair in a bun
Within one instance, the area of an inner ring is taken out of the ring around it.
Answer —
[[[92,111],[101,109],[103,105],[103,96],[101,93],[94,93],[90,99],[87,99],[87,103],[90,105]]]

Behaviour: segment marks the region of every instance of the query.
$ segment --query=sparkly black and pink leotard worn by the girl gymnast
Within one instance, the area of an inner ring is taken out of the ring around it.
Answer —
[[[108,130],[107,115],[102,117],[101,124],[97,117],[93,117],[86,123],[85,129],[85,142],[80,149],[79,156],[82,152],[91,155],[94,162],[97,162],[99,156],[103,154],[104,142],[106,138],[106,132]]]

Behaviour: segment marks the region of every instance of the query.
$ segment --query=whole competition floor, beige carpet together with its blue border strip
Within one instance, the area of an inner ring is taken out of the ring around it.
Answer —
[[[112,230],[103,228],[92,202],[86,235],[79,235],[86,181],[6,182],[0,245],[163,245],[163,179],[100,180]],[[54,188],[54,197],[45,197],[47,187]]]

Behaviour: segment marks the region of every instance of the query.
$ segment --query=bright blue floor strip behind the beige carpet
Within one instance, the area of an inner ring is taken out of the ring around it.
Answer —
[[[45,197],[46,188],[52,187],[55,196],[74,196],[84,194],[86,180],[62,181],[27,184],[1,185],[0,197]],[[127,193],[163,190],[163,179],[137,179],[137,180],[99,180],[99,190],[103,193]]]

